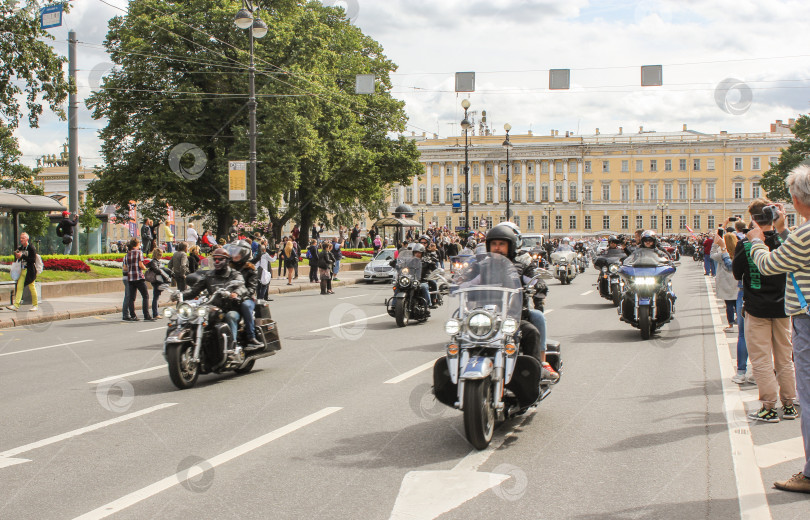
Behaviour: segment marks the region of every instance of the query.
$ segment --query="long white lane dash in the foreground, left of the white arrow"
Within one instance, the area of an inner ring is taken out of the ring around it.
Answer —
[[[117,500],[110,502],[109,504],[103,505],[98,509],[94,509],[89,513],[85,513],[81,516],[76,517],[74,520],[99,520],[101,518],[107,518],[108,516],[123,511],[124,509],[137,504],[147,498],[153,497],[158,493],[166,491],[178,484],[182,484],[183,482],[193,479],[200,474],[203,473],[204,470],[201,469],[201,466],[204,466],[206,470],[213,469],[221,464],[225,464],[237,457],[240,457],[246,453],[249,453],[257,448],[261,448],[265,444],[269,444],[270,442],[284,437],[285,435],[292,433],[304,426],[308,426],[324,417],[332,415],[335,412],[342,410],[343,408],[340,407],[330,407],[324,408],[319,412],[315,412],[311,415],[307,415],[306,417],[299,419],[293,423],[288,424],[287,426],[283,426],[277,430],[273,430],[270,433],[262,435],[261,437],[257,437],[252,441],[248,441],[240,446],[232,448],[220,455],[212,457],[207,461],[201,462],[196,466],[188,470],[184,470],[169,477],[164,478],[163,480],[159,480],[154,484],[150,484],[144,488],[141,488],[137,491],[134,491],[128,495],[125,495]]]

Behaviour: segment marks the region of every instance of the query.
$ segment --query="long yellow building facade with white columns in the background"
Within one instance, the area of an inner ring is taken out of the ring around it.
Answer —
[[[792,134],[638,132],[587,136],[511,135],[512,220],[524,232],[553,236],[664,234],[715,229],[745,216],[764,196],[759,181]],[[504,136],[469,137],[470,227],[485,230],[506,219]],[[409,204],[415,219],[464,226],[464,137],[417,141],[425,174],[395,186],[391,208]],[[462,194],[461,213],[452,211]],[[789,210],[789,224],[797,216]]]

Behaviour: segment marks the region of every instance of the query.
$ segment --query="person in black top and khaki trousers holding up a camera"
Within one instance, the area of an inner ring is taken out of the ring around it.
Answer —
[[[748,206],[748,212],[755,221],[761,220],[763,209],[770,205],[771,201],[767,199],[756,199]],[[780,232],[784,230],[784,218],[774,223]],[[762,247],[770,251],[776,251],[780,247],[780,237],[774,231],[774,223],[760,221],[754,227],[758,233],[752,235],[760,242],[764,238]],[[776,410],[777,399],[782,402],[785,419],[795,419],[798,416],[793,406],[796,399],[796,374],[790,341],[790,319],[785,314],[785,275],[767,275],[760,271],[753,260],[753,248],[751,238],[746,238],[737,244],[732,261],[734,277],[743,281],[745,342],[762,403],[762,408],[749,417],[776,423],[780,420]]]

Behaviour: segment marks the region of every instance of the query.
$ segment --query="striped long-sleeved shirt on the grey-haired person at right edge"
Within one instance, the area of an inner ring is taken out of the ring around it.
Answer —
[[[782,235],[784,236],[784,235]],[[787,236],[781,247],[768,252],[768,246],[755,240],[751,246],[751,258],[764,275],[793,273],[805,298],[810,298],[810,221]],[[785,283],[785,314],[803,314],[793,282]]]

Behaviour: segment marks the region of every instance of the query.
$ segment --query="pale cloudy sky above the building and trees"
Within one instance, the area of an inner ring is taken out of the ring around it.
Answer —
[[[259,0],[260,1],[260,0]],[[346,9],[398,65],[392,94],[406,102],[408,135],[461,135],[461,100],[492,131],[575,135],[690,130],[766,132],[808,113],[807,0],[322,0]],[[126,0],[74,0],[51,29],[67,54],[75,29],[83,101],[112,64],[100,44]],[[238,29],[234,29],[238,30]],[[661,65],[663,85],[642,87],[640,67]],[[568,90],[548,89],[549,69],[570,69]],[[476,91],[456,93],[456,72]],[[79,154],[101,164],[94,121],[80,105]],[[58,153],[67,122],[52,114],[16,135],[30,166]]]

